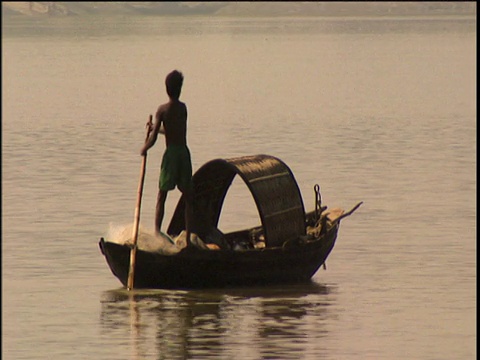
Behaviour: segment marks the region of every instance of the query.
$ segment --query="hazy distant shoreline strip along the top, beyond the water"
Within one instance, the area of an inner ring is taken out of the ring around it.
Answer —
[[[476,2],[2,2],[2,19],[89,17],[437,17],[476,18]]]

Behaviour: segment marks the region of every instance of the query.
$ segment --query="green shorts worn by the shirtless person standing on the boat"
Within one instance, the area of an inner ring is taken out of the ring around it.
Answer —
[[[192,159],[185,145],[170,145],[162,158],[159,188],[169,191],[175,186],[183,191],[192,187]]]

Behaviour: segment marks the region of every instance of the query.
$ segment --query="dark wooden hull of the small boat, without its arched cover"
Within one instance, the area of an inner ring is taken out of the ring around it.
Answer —
[[[339,225],[314,241],[296,241],[262,250],[200,250],[188,247],[176,255],[137,249],[135,288],[194,289],[309,281],[325,263]],[[130,247],[99,242],[112,273],[126,286]]]

